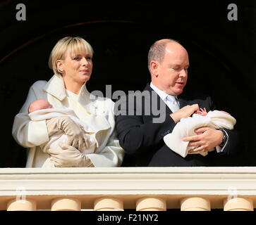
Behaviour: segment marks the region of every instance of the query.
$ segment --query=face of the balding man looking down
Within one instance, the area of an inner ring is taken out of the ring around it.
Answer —
[[[164,60],[155,62],[152,83],[162,91],[172,96],[178,96],[188,79],[188,53],[176,42],[166,44]]]

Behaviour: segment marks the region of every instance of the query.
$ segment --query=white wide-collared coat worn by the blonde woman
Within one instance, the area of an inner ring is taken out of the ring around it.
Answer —
[[[26,167],[42,167],[50,157],[39,145],[49,141],[45,120],[32,121],[28,107],[32,101],[46,99],[54,108],[68,108],[66,91],[61,76],[54,75],[49,82],[37,81],[30,87],[27,100],[13,122],[13,138],[20,146],[29,148]],[[87,154],[95,167],[117,167],[121,165],[124,151],[114,131],[114,102],[109,98],[90,94],[85,84],[80,90],[75,114],[96,132],[99,148]]]

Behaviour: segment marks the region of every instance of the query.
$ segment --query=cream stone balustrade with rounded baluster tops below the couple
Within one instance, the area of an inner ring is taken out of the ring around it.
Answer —
[[[1,168],[0,210],[252,211],[256,167]]]

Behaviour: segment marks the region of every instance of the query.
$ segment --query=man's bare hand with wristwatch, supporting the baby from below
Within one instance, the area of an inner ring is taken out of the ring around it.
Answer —
[[[199,146],[193,150],[190,150],[189,153],[195,153],[201,150],[211,150],[212,148],[219,146],[223,139],[222,131],[209,127],[199,127],[195,129],[195,133],[197,135],[183,138],[183,141],[190,142],[188,146]]]

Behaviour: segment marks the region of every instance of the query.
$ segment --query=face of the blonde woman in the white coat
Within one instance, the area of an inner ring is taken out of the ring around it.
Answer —
[[[65,82],[85,84],[92,74],[92,56],[85,53],[71,54],[66,52],[64,60],[61,60],[60,68]]]

